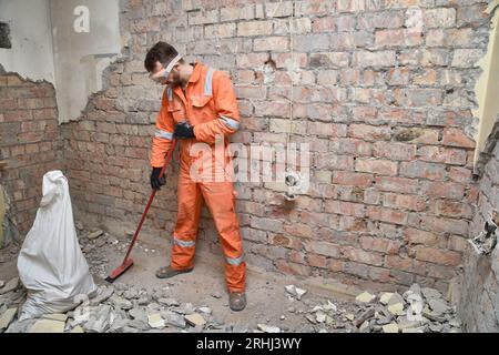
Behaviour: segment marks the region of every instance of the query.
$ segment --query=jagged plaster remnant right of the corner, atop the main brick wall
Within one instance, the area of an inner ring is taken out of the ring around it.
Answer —
[[[102,71],[121,53],[119,0],[51,0],[59,122],[75,120],[102,89]],[[77,32],[74,9],[89,9],[89,32]]]

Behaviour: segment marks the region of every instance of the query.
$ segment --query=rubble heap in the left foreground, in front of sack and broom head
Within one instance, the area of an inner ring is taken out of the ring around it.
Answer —
[[[13,284],[18,280],[9,282]],[[6,285],[7,286],[7,285]],[[4,287],[6,287],[4,286]],[[4,290],[2,288],[2,291]],[[0,332],[28,333],[136,333],[225,331],[207,306],[181,303],[165,291],[147,293],[123,284],[102,285],[94,297],[65,314],[47,314],[41,318],[16,321],[26,295],[22,287],[0,298]],[[166,329],[169,328],[169,329]]]

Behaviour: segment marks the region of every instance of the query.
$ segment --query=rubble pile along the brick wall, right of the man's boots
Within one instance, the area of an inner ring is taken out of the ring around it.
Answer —
[[[296,291],[299,290],[297,293]],[[289,301],[302,301],[306,293],[294,285],[285,287]],[[299,296],[298,296],[299,294]],[[304,310],[303,306],[308,306]],[[332,303],[303,300],[301,306],[289,306],[289,313],[303,314],[317,333],[460,333],[461,322],[456,310],[435,288],[414,284],[399,293],[379,295],[363,292],[355,302]],[[285,316],[282,316],[285,320]],[[281,333],[279,327],[258,324],[256,332]]]

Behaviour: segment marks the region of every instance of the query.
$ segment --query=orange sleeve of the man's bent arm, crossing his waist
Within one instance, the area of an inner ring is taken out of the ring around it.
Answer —
[[[231,79],[223,72],[213,75],[213,99],[217,119],[194,126],[194,135],[205,143],[214,143],[216,135],[235,133],[240,129],[240,110]]]

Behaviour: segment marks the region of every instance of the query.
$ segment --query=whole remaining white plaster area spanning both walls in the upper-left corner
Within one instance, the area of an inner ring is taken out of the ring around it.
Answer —
[[[59,123],[77,120],[121,55],[119,7],[119,0],[3,0],[0,21],[10,27],[12,48],[0,49],[0,64],[52,83]]]

